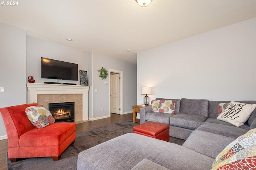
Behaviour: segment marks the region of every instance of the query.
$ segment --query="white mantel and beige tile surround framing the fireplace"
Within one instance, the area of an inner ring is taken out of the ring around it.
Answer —
[[[75,102],[75,122],[88,120],[90,86],[27,83],[28,103],[42,104]]]

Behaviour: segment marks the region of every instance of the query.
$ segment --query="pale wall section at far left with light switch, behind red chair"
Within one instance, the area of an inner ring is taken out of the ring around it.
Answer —
[[[0,108],[26,103],[26,31],[0,23]],[[0,136],[6,129],[0,116]]]

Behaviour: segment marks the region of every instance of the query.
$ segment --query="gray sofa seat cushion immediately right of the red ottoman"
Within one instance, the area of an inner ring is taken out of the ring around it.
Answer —
[[[179,113],[170,117],[170,125],[195,130],[207,117],[202,115],[190,115]]]

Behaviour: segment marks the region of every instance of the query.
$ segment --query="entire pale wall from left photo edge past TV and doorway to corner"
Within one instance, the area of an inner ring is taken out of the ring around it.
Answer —
[[[71,47],[27,36],[26,31],[1,23],[0,86],[5,87],[0,94],[0,107],[27,103],[28,76],[34,76],[36,83],[56,82],[41,78],[41,57],[77,63],[78,70],[88,71],[89,117],[100,119],[108,113],[108,79],[101,80],[97,70],[107,69],[123,71],[123,112],[132,112],[136,104],[136,64],[127,63],[111,57],[95,55],[92,51],[80,51]],[[78,74],[79,75],[79,74]],[[77,83],[78,81],[59,80],[59,82]],[[93,88],[93,85],[95,88]],[[93,89],[98,89],[95,94]],[[100,104],[100,107],[98,107]],[[99,108],[104,108],[102,112]],[[6,131],[0,117],[0,136],[6,139]]]

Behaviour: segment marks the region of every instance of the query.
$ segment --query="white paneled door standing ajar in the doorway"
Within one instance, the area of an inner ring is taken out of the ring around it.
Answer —
[[[110,78],[110,112],[120,114],[120,74],[113,74]]]

